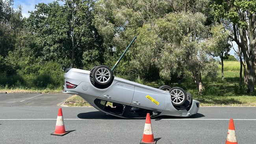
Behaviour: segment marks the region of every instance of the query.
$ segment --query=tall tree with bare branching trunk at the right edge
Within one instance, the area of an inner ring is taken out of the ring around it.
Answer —
[[[248,72],[247,92],[254,91],[255,78],[255,0],[215,0],[212,4],[215,18],[226,24],[229,37],[241,48]]]

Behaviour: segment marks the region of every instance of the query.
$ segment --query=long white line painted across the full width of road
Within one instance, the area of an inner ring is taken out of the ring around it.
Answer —
[[[0,120],[57,120],[56,118],[32,118],[32,119],[0,119]],[[64,120],[119,120],[119,119],[81,119],[81,118],[66,118]],[[126,120],[126,119],[123,119]],[[129,119],[127,119],[129,120]],[[135,119],[131,119],[135,120]],[[144,120],[144,119],[138,119]],[[152,119],[158,120],[158,119]],[[209,118],[173,118],[173,119],[161,119],[161,120],[230,120],[230,119],[209,119]],[[256,119],[233,119],[233,120],[256,120]]]

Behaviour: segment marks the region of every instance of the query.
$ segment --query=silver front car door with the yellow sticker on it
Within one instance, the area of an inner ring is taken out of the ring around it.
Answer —
[[[153,90],[135,87],[131,106],[153,111],[162,111],[165,105],[166,94]]]

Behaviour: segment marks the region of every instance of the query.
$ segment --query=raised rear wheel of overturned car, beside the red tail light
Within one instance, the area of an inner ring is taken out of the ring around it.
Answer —
[[[93,81],[98,85],[108,85],[113,81],[113,72],[112,70],[105,65],[97,66],[93,70]]]

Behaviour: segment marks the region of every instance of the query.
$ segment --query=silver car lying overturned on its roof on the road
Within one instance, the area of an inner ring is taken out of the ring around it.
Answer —
[[[180,87],[161,86],[160,89],[113,76],[108,66],[89,70],[69,68],[65,72],[63,93],[78,94],[93,107],[121,118],[191,116],[200,102]]]

